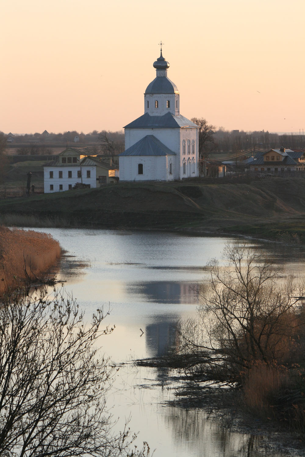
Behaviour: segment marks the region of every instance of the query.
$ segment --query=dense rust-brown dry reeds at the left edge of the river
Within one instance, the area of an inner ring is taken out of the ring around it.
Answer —
[[[59,242],[49,234],[0,226],[0,294],[40,279],[60,254]]]

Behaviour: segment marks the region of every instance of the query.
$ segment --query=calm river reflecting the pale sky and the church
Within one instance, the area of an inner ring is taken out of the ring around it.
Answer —
[[[58,271],[65,291],[72,294],[89,321],[96,308],[110,311],[102,351],[116,364],[161,355],[175,337],[177,319],[193,316],[196,284],[212,258],[221,261],[226,238],[177,233],[90,229],[36,229],[50,233],[66,250]],[[244,240],[236,240],[244,243]],[[265,250],[281,265],[283,277],[304,274],[304,249],[276,248],[271,243],[246,241]],[[85,319],[85,320],[86,320]],[[227,429],[218,414],[170,404],[179,381],[161,370],[128,363],[116,373],[107,399],[115,427],[125,419],[139,431],[138,441],[156,449],[154,457],[284,457],[301,456],[288,442],[284,448],[255,434]]]

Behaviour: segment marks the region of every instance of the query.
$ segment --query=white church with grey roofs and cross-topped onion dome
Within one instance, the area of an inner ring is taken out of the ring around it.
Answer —
[[[144,93],[144,114],[125,125],[120,181],[171,181],[198,176],[198,125],[180,114],[180,94],[161,55]]]

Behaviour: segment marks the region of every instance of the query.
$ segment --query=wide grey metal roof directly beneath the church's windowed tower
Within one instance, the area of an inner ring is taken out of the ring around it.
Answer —
[[[197,124],[190,121],[182,114],[175,116],[174,114],[168,112],[163,116],[150,116],[150,114],[145,113],[142,116],[135,119],[133,122],[125,125],[124,128],[181,128],[181,127],[196,127]]]

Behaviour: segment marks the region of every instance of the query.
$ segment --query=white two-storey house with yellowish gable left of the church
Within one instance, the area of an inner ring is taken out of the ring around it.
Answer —
[[[76,183],[100,187],[117,181],[113,173],[114,167],[95,157],[84,157],[84,153],[88,154],[86,148],[67,148],[57,159],[44,165],[44,193],[68,191]]]

